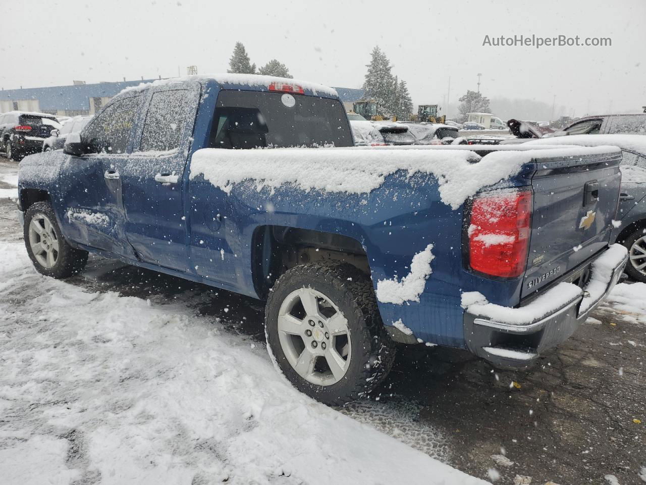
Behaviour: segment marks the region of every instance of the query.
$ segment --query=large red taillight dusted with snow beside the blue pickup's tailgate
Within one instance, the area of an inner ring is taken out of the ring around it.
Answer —
[[[474,199],[468,229],[471,268],[492,276],[523,274],[532,230],[531,215],[530,191]]]

